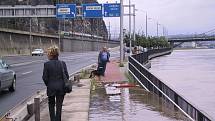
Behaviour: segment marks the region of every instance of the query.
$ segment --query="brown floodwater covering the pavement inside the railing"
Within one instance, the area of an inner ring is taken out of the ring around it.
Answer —
[[[120,95],[91,91],[90,121],[190,121],[174,105],[141,87],[121,88]]]

